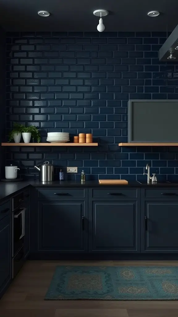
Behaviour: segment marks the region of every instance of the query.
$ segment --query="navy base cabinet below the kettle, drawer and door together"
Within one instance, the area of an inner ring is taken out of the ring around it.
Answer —
[[[80,188],[39,188],[36,190],[37,223],[32,252],[83,253],[88,250],[88,195]],[[33,231],[31,230],[33,234]],[[33,234],[34,236],[34,234]]]

